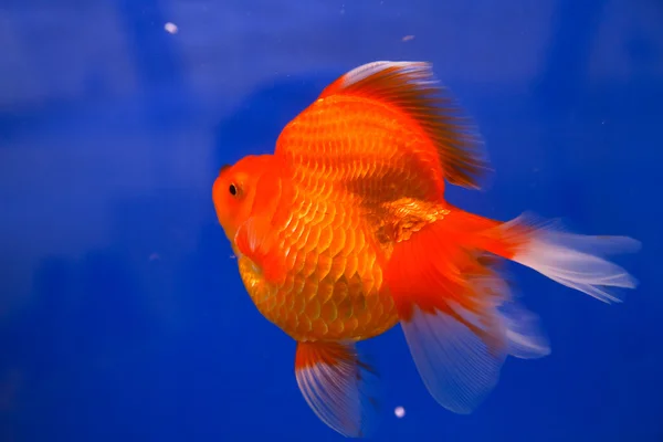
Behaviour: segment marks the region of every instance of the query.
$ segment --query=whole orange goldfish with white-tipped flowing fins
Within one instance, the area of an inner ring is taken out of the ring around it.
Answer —
[[[499,274],[511,260],[603,302],[635,280],[607,261],[625,236],[585,236],[520,215],[502,222],[444,199],[487,169],[473,128],[417,62],[375,62],[330,84],[273,155],[221,168],[219,222],[257,309],[297,341],[304,398],[330,428],[375,422],[376,370],[356,343],[400,323],[423,383],[474,410],[507,355],[549,354],[536,316]]]

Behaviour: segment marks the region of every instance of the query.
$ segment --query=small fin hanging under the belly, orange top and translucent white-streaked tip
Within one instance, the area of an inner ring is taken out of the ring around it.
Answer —
[[[355,344],[298,343],[295,375],[316,415],[347,438],[371,433],[377,422],[377,372]]]

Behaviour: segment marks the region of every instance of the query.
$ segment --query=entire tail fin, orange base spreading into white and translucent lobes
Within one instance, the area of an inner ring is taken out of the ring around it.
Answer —
[[[629,238],[577,235],[526,217],[499,223],[451,210],[396,244],[385,282],[429,392],[446,409],[470,413],[497,383],[507,355],[550,352],[538,318],[511,298],[496,256],[610,302],[636,282],[604,255],[638,246]]]

